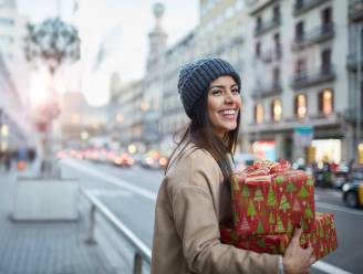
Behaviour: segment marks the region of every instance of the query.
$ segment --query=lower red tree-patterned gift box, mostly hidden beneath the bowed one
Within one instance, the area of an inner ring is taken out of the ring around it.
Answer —
[[[258,253],[283,254],[290,243],[292,234],[274,235],[240,235],[234,228],[221,226],[220,239],[222,243]],[[317,260],[333,252],[338,247],[334,217],[332,213],[317,212],[314,230],[304,232],[300,238],[300,245],[305,247],[311,243]]]

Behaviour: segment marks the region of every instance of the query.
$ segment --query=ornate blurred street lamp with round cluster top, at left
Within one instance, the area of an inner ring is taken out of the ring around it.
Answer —
[[[28,62],[45,65],[54,77],[56,71],[65,63],[73,63],[80,59],[80,38],[77,30],[60,18],[48,19],[40,24],[28,24],[25,36],[25,57]],[[53,178],[58,173],[54,169],[52,151],[52,124],[60,115],[55,88],[48,91],[48,98],[38,109],[35,120],[40,133],[44,134],[43,177]],[[41,126],[40,126],[41,125]]]

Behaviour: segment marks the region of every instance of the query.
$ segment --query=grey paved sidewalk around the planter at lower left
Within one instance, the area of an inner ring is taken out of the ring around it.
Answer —
[[[86,245],[87,204],[79,222],[13,222],[10,220],[17,175],[0,171],[0,274],[114,274],[127,265],[110,261],[101,239]],[[127,271],[126,271],[127,270]]]

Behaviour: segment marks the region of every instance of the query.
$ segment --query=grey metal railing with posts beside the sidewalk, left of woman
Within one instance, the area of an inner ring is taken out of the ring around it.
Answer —
[[[133,273],[142,274],[143,261],[148,265],[152,264],[152,251],[151,249],[139,240],[125,224],[123,224],[97,198],[91,194],[87,190],[82,189],[81,192],[91,202],[90,210],[90,229],[86,238],[86,243],[90,245],[96,244],[94,238],[95,229],[95,214],[101,213],[118,233],[121,233],[135,249]]]

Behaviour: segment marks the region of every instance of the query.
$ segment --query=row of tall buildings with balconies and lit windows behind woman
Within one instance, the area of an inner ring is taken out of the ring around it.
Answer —
[[[160,28],[149,35],[143,98],[159,110],[145,113],[144,125],[157,133],[144,128],[143,136],[170,151],[174,134],[188,123],[177,93],[180,66],[219,56],[242,78],[238,150],[273,160],[349,161],[362,136],[361,7],[354,0],[200,0],[198,27],[175,45],[166,49]]]

